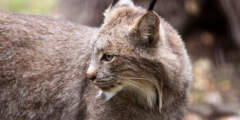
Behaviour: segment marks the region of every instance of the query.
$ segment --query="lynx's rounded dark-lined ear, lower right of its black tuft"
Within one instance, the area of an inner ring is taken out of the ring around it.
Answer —
[[[130,42],[135,46],[155,47],[159,40],[159,30],[159,16],[153,11],[147,11],[131,29]]]

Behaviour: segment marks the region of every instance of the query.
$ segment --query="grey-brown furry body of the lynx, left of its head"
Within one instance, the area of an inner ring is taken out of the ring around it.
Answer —
[[[73,120],[95,32],[63,20],[0,13],[0,120]]]

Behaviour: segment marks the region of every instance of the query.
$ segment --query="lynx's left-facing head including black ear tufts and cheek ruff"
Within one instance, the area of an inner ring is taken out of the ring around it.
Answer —
[[[174,61],[185,49],[174,30],[169,30],[174,35],[167,38],[168,25],[152,11],[155,2],[145,10],[130,0],[115,0],[106,10],[87,70],[87,77],[106,100],[129,91],[150,108],[161,109],[164,81],[175,77],[180,67]],[[171,44],[169,39],[177,40]]]

